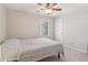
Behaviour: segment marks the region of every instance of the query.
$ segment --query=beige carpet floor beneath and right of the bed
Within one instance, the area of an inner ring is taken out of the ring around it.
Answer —
[[[57,55],[53,55],[40,62],[88,62],[88,54],[65,47],[65,56],[58,58]]]

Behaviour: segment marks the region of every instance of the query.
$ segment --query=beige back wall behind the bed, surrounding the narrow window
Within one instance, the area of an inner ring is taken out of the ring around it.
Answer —
[[[40,36],[40,22],[45,17],[8,10],[8,39],[9,37],[38,37]],[[53,37],[52,19],[50,20],[49,37]]]

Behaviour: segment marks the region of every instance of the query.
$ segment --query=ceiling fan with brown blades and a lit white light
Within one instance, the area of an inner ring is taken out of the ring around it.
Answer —
[[[51,13],[52,11],[61,11],[61,7],[58,3],[38,3],[41,10],[45,10],[47,13]]]

